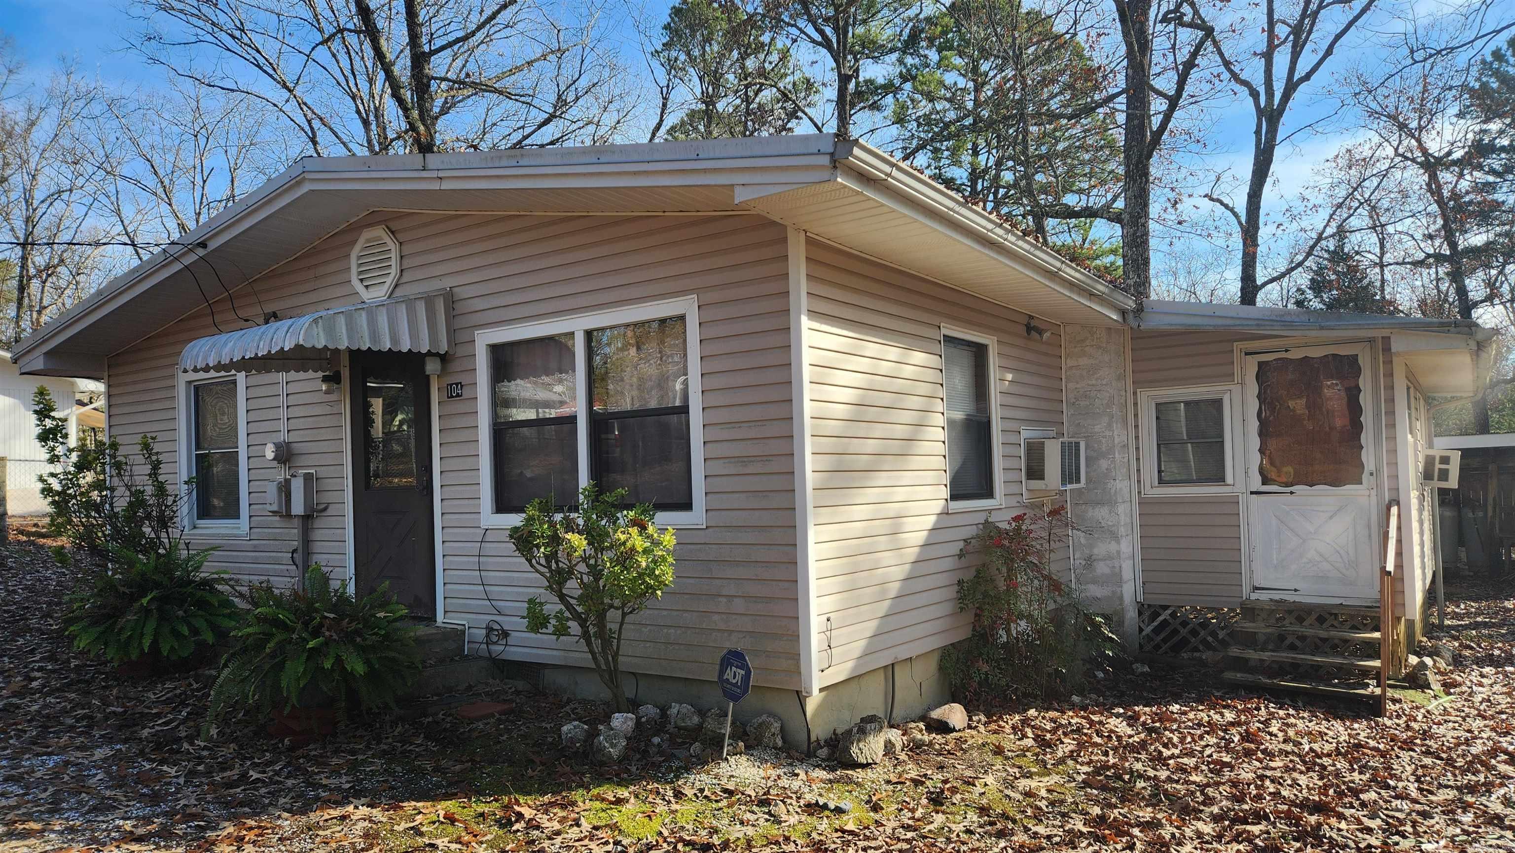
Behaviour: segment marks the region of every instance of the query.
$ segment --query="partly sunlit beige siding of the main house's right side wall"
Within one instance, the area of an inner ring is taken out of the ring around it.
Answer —
[[[809,242],[806,255],[818,685],[967,635],[957,551],[983,509],[947,512],[941,324],[995,338],[1006,518],[1020,429],[1062,429],[1059,336],[1026,315]]]

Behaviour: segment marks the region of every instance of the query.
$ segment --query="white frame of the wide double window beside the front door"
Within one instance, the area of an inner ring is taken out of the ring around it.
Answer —
[[[530,341],[553,335],[574,335],[574,380],[579,388],[579,486],[589,482],[589,347],[588,332],[648,320],[683,317],[688,335],[689,368],[689,485],[691,509],[659,511],[656,521],[665,527],[704,527],[704,403],[700,394],[700,303],[695,297],[651,302],[632,308],[579,314],[521,326],[504,326],[474,333],[474,370],[479,395],[479,524],[485,529],[514,527],[520,512],[494,511],[494,377],[489,364],[492,344]]]

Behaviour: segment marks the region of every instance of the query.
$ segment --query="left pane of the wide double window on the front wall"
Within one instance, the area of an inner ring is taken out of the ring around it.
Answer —
[[[494,506],[520,512],[536,497],[579,495],[579,389],[574,335],[489,347],[494,380]]]

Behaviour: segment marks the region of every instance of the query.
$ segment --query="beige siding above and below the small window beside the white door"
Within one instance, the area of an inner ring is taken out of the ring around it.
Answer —
[[[1135,391],[1236,383],[1236,342],[1259,335],[1232,332],[1132,332]],[[1148,429],[1139,398],[1136,412],[1136,477],[1141,488],[1142,430]],[[1238,421],[1241,411],[1232,412]],[[1230,438],[1235,442],[1233,438]],[[1235,447],[1230,447],[1235,453]],[[1238,480],[1242,473],[1236,471]],[[1238,486],[1239,491],[1239,486]],[[1141,600],[1148,605],[1235,608],[1242,598],[1241,497],[1138,495]]]

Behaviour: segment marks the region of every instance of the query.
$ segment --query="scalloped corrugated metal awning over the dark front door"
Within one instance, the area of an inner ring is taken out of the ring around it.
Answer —
[[[321,373],[341,350],[445,353],[453,348],[453,294],[432,291],[276,320],[191,341],[185,373]]]

